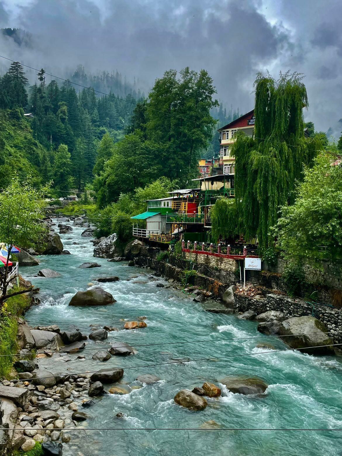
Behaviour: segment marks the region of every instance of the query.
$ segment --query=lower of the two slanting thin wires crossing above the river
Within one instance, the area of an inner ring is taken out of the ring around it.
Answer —
[[[128,367],[114,367],[114,368],[107,368],[107,369],[100,369],[96,371],[88,371],[88,372],[74,372],[74,373],[65,373],[65,374],[52,374],[52,375],[47,375],[46,377],[37,377],[37,378],[51,378],[54,377],[54,375],[80,375],[80,374],[88,374],[88,373],[105,373],[111,370],[118,370],[118,369],[138,369],[138,368],[149,368],[149,367],[156,367],[156,366],[165,366],[166,364],[185,364],[185,363],[195,363],[196,361],[208,361],[208,360],[217,360],[217,359],[223,359],[223,358],[242,358],[243,356],[258,356],[258,355],[264,355],[266,353],[284,353],[284,352],[295,352],[295,351],[301,351],[301,350],[306,350],[310,349],[312,350],[313,348],[323,348],[323,347],[336,347],[336,346],[341,346],[342,343],[335,343],[335,344],[328,344],[328,345],[316,345],[314,347],[302,347],[302,348],[287,348],[285,350],[269,350],[267,352],[251,352],[251,353],[242,353],[239,355],[225,355],[225,356],[212,356],[210,358],[197,358],[197,359],[190,359],[190,360],[183,360],[183,361],[167,361],[165,363],[156,363],[156,364],[143,364],[140,366],[128,366]],[[33,378],[21,378],[20,380],[18,379],[13,379],[11,382],[25,382],[25,381],[31,381]],[[0,383],[7,383],[9,380],[2,380]]]

